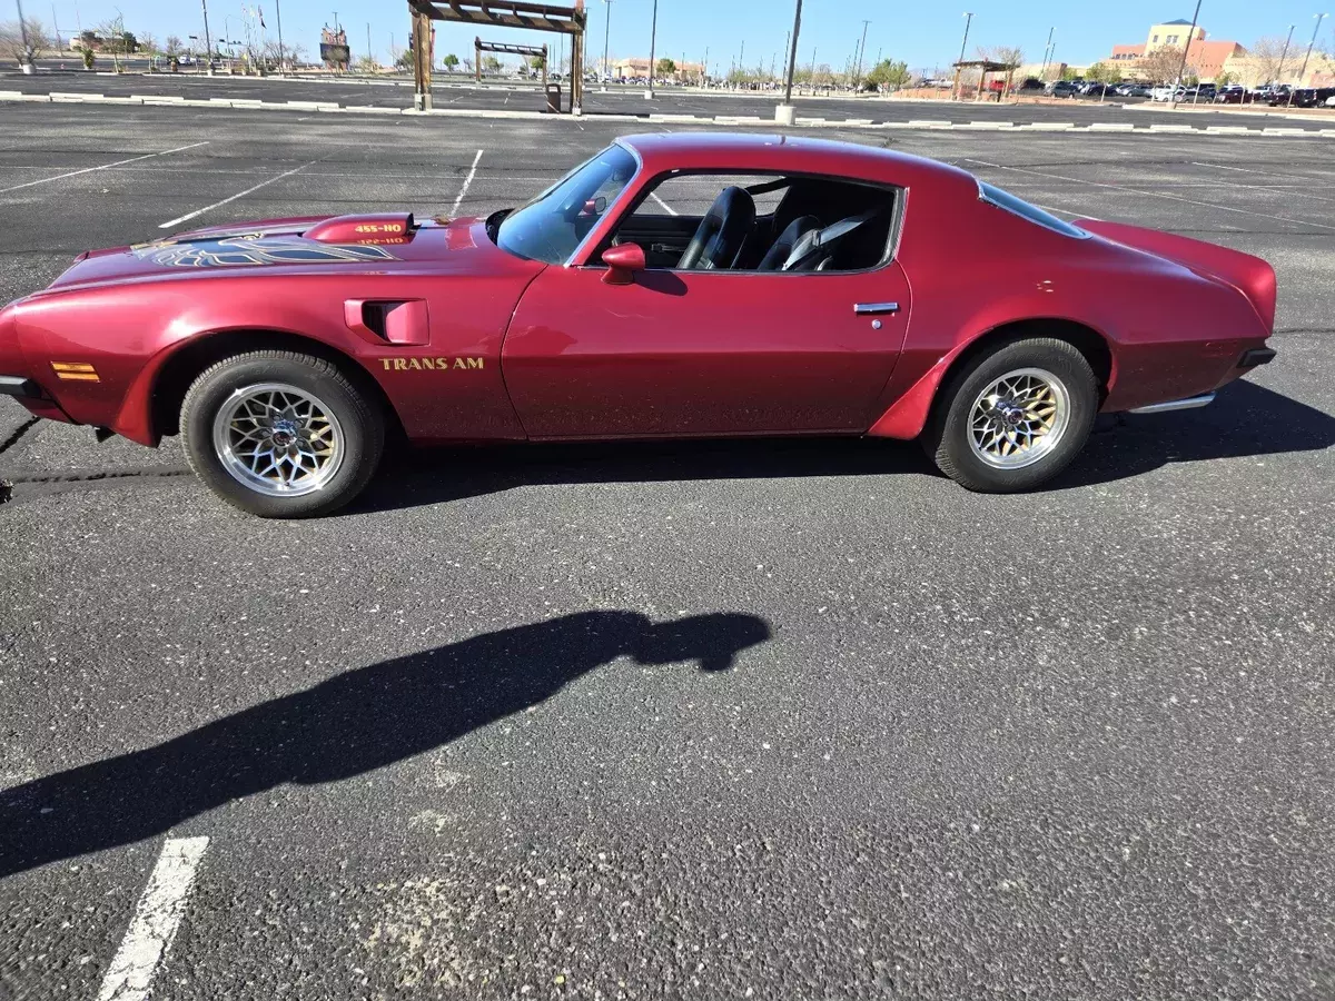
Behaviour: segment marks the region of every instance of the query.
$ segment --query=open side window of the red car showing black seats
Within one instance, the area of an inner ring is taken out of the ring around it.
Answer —
[[[896,188],[833,178],[673,172],[621,219],[650,270],[862,271],[884,263]]]

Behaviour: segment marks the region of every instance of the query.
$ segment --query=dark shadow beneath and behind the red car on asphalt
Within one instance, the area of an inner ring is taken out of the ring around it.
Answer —
[[[1169,462],[1319,451],[1335,418],[1252,382],[1200,410],[1100,416],[1065,490],[1149,472]],[[797,476],[939,476],[913,442],[881,438],[742,438],[419,448],[396,454],[346,514],[459,500],[522,486]]]

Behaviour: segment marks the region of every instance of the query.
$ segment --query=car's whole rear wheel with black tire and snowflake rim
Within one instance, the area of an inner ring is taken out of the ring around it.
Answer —
[[[943,387],[922,446],[969,490],[1031,490],[1071,464],[1097,411],[1099,380],[1073,344],[1017,339]]]

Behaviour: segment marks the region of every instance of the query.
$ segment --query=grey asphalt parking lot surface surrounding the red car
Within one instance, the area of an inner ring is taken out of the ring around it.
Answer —
[[[485,214],[623,131],[0,105],[0,299],[187,215]],[[0,996],[128,992],[174,906],[155,998],[1335,994],[1328,140],[822,135],[1258,254],[1279,358],[1035,495],[457,450],[302,523],[3,403]]]

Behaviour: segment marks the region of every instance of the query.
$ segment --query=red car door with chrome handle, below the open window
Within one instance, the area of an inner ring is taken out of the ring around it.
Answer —
[[[904,346],[889,262],[856,272],[549,267],[502,367],[533,438],[858,432]]]

